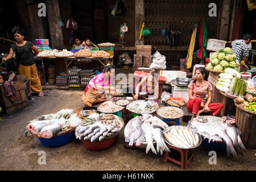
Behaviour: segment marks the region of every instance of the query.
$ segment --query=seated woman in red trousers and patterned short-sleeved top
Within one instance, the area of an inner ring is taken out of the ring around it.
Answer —
[[[201,113],[209,113],[212,115],[218,114],[222,109],[221,103],[210,103],[212,101],[212,85],[210,82],[204,80],[205,69],[200,67],[196,69],[195,80],[188,85],[189,101],[187,108],[192,112],[192,118],[189,123],[191,125],[193,118],[199,116]],[[205,97],[208,93],[208,101],[205,103]]]

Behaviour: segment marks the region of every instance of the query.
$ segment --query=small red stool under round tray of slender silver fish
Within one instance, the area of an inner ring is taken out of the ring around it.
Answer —
[[[174,150],[177,150],[181,154],[181,161],[177,161],[170,156],[168,156],[169,152],[166,152],[166,156],[164,157],[164,162],[167,163],[167,160],[171,160],[172,162],[179,164],[181,166],[181,170],[187,169],[188,168],[188,163],[190,162],[191,159],[193,159],[194,152],[193,149],[181,149],[181,148],[176,148],[171,146],[170,144],[167,144],[168,148],[173,148]],[[188,151],[191,152],[191,155],[188,157]]]

